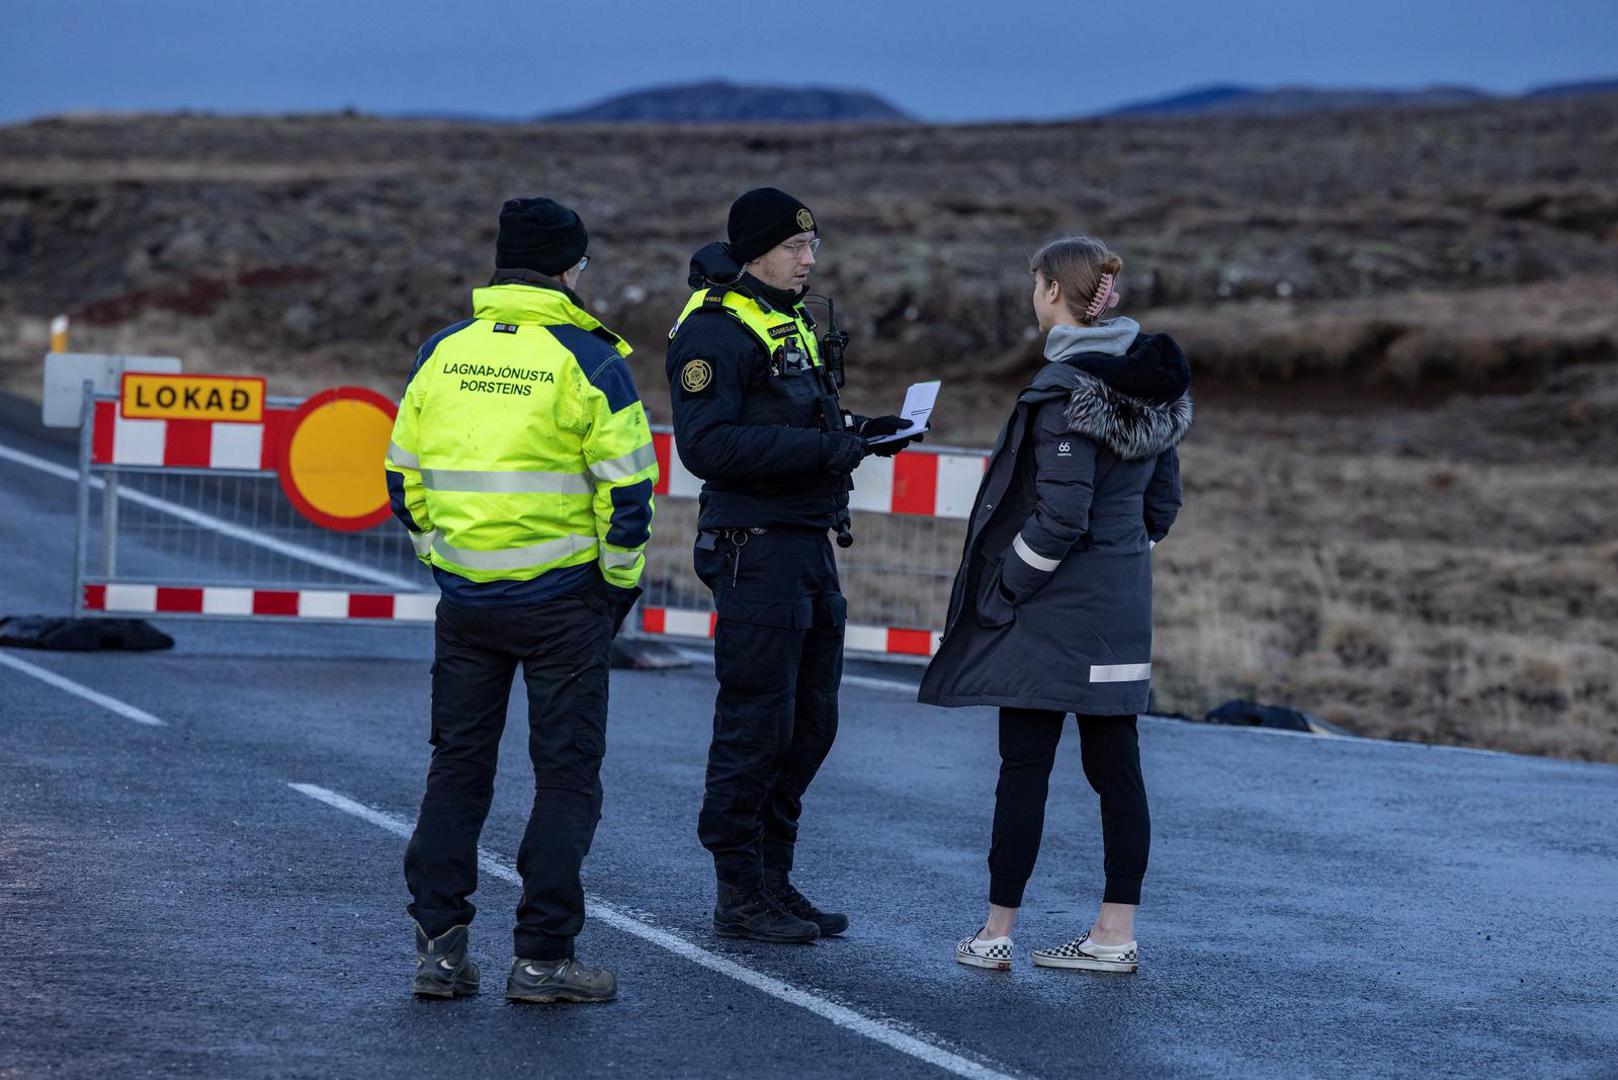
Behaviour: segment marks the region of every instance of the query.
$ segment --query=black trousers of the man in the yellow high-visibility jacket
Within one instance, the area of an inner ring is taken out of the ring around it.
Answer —
[[[573,955],[584,926],[579,866],[602,811],[607,667],[613,619],[604,586],[532,607],[438,602],[432,662],[432,763],[416,832],[404,850],[409,913],[430,936],[477,908],[477,837],[495,790],[511,677],[527,687],[534,808],[518,848],[523,900],[515,952]]]

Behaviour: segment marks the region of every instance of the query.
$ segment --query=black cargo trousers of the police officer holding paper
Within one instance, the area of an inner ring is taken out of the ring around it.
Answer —
[[[697,534],[714,591],[714,742],[697,837],[718,881],[791,870],[803,797],[837,738],[848,602],[824,528]]]

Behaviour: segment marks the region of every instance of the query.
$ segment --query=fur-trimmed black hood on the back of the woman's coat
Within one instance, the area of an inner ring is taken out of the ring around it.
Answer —
[[[1068,431],[1136,461],[1191,431],[1191,366],[1175,338],[1141,334],[1121,356],[1079,353],[1045,364],[1029,392],[1065,393]]]

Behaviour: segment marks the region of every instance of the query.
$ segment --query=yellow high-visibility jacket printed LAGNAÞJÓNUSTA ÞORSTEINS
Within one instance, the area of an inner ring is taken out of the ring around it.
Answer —
[[[628,355],[523,272],[472,290],[472,317],[421,347],[385,465],[447,594],[531,602],[592,563],[608,585],[641,580],[657,453]],[[518,581],[534,585],[489,585]]]

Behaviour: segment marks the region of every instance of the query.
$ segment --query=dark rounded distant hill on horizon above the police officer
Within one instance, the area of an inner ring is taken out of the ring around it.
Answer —
[[[859,123],[909,118],[864,91],[725,81],[657,86],[540,117],[565,123]]]

